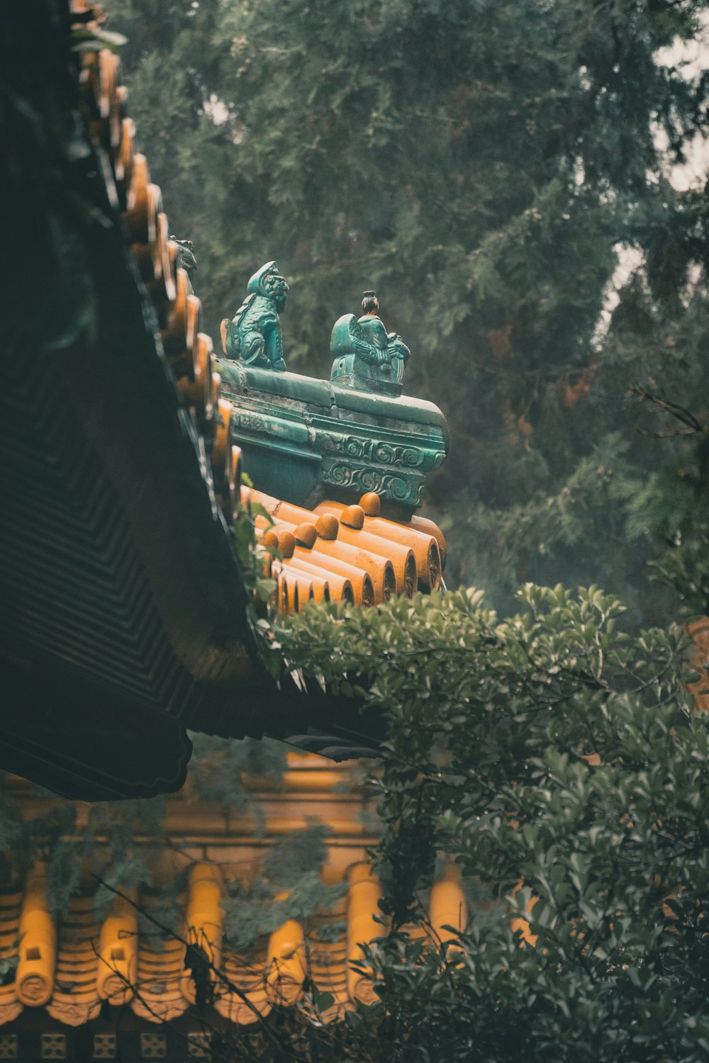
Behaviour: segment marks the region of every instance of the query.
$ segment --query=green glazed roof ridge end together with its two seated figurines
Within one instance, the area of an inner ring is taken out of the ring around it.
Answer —
[[[277,310],[288,286],[274,261],[248,290],[234,320],[222,321],[217,364],[244,471],[267,493],[308,508],[374,491],[387,517],[407,521],[426,473],[445,458],[448,429],[437,406],[401,394],[409,350],[386,332],[376,294],[365,292],[358,320],[345,314],[335,323],[327,382],[285,371]]]

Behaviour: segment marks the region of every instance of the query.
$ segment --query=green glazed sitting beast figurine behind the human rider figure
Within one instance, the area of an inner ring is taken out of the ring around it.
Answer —
[[[224,354],[247,366],[286,370],[278,314],[286,305],[288,285],[275,263],[266,263],[249,281],[247,298],[232,321],[221,323]]]

